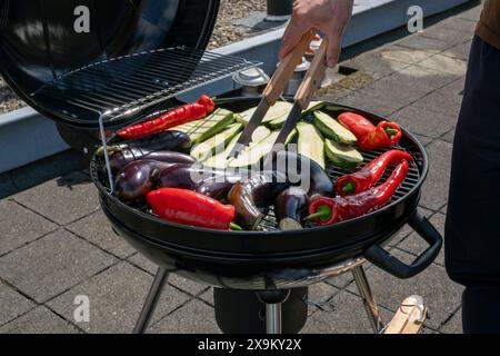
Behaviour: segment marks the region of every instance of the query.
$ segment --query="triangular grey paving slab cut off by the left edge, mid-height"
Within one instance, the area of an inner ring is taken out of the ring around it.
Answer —
[[[0,256],[53,231],[56,224],[21,207],[13,200],[0,201]]]

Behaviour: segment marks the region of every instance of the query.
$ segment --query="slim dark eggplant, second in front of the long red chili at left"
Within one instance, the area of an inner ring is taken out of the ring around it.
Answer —
[[[151,151],[149,149],[124,145],[108,147],[110,152],[109,164],[111,172],[118,174],[128,164],[139,159],[151,159],[168,164],[194,164],[196,159],[191,156],[174,151]],[[97,155],[103,155],[98,151]]]

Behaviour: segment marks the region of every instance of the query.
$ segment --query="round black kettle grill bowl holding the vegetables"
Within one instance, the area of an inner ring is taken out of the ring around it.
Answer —
[[[240,111],[259,98],[231,98],[218,107]],[[382,118],[370,112],[330,103],[329,109],[359,112],[373,122]],[[258,231],[220,231],[161,220],[122,204],[99,180],[96,160],[92,179],[99,189],[103,211],[114,230],[153,263],[209,285],[241,289],[294,287],[316,283],[324,270],[340,270],[363,258],[373,245],[383,244],[416,214],[421,185],[428,172],[423,146],[403,130],[400,148],[416,158],[407,180],[392,201],[369,215],[327,227],[276,230],[272,215]],[[366,161],[380,152],[363,152]],[[328,167],[337,177],[346,171]],[[333,268],[333,269],[332,269]]]

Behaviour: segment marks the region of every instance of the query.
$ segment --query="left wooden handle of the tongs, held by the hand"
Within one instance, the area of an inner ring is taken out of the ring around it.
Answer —
[[[312,30],[302,36],[299,44],[297,44],[297,47],[288,53],[278,66],[278,69],[274,71],[271,80],[262,92],[262,97],[266,98],[269,106],[273,106],[284,91],[297,66],[302,62],[302,56],[309,48],[309,43],[311,43],[313,38],[314,32]]]

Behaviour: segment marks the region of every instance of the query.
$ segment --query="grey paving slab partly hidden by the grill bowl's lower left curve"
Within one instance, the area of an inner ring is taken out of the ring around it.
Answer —
[[[114,234],[101,210],[69,225],[68,229],[120,258],[127,258],[136,251],[122,237]]]

